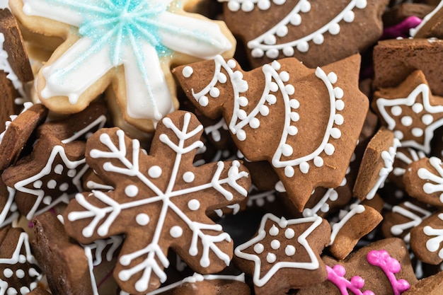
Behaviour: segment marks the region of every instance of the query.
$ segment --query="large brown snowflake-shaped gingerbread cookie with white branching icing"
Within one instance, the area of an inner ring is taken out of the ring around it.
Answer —
[[[195,115],[176,111],[157,126],[149,155],[118,128],[87,141],[86,162],[115,190],[77,194],[64,225],[81,243],[125,233],[114,271],[123,291],[158,288],[168,248],[200,273],[229,265],[231,238],[206,212],[240,202],[251,181],[238,161],[192,166],[202,132]]]

